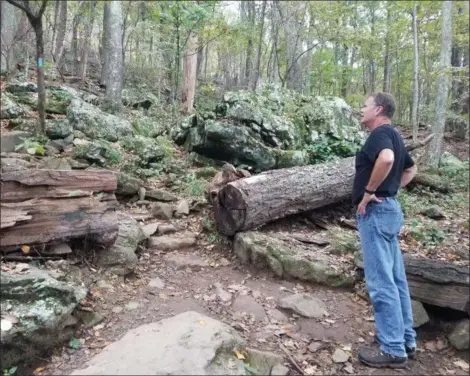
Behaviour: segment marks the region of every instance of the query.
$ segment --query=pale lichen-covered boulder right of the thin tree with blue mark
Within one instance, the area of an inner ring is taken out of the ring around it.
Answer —
[[[74,98],[67,110],[67,118],[72,127],[83,132],[90,139],[103,138],[116,142],[123,136],[132,134],[129,121],[101,111],[85,101]]]

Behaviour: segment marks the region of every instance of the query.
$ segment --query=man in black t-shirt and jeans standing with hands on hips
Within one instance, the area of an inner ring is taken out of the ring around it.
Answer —
[[[395,101],[373,93],[361,110],[370,131],[356,155],[352,198],[364,258],[366,286],[374,307],[376,342],[359,350],[359,360],[371,367],[406,367],[416,350],[411,300],[398,235],[403,213],[396,199],[399,188],[416,175],[416,165],[402,138],[391,126]]]

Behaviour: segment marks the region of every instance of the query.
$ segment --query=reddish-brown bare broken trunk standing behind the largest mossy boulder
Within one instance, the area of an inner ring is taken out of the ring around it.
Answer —
[[[196,91],[197,36],[191,31],[183,59],[183,81],[181,83],[181,103],[184,113],[193,111]]]

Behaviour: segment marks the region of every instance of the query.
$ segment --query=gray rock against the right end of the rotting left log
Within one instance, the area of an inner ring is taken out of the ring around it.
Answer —
[[[99,251],[98,265],[117,275],[131,273],[137,265],[135,251],[147,237],[137,221],[126,213],[119,213],[119,232],[116,242]]]

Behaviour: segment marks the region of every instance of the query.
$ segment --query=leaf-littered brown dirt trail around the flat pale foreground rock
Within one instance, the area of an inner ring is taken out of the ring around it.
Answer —
[[[231,293],[230,300],[227,294],[225,300],[221,299],[221,287]],[[278,299],[293,292],[309,292],[322,300],[328,316],[306,319],[277,309]],[[454,364],[462,354],[456,354],[442,334],[425,330],[419,330],[418,357],[409,362],[408,369],[362,366],[357,361],[357,350],[371,342],[374,332],[367,302],[352,291],[279,280],[269,272],[241,265],[228,245],[199,245],[167,253],[145,250],[134,275],[99,277],[88,302],[104,320],[77,333],[80,349],[64,347],[37,374],[70,374],[128,330],[190,310],[233,325],[250,347],[283,355],[291,374],[298,372],[280,343],[306,374],[467,374]],[[333,361],[338,348],[351,354],[348,362]]]

